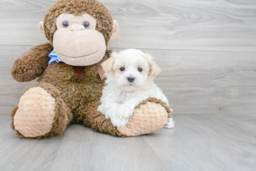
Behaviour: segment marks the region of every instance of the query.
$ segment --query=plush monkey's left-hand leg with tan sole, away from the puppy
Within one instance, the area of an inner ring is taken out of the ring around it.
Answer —
[[[73,115],[53,85],[37,82],[22,94],[11,117],[11,127],[17,135],[40,139],[60,135]]]

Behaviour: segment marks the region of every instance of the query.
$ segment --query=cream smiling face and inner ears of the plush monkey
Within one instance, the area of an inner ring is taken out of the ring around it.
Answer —
[[[58,58],[72,66],[90,66],[100,62],[106,53],[106,41],[103,34],[95,29],[96,23],[88,13],[81,16],[59,15],[56,18],[57,30],[53,35],[54,51]],[[43,22],[40,22],[39,29],[44,34]],[[114,39],[117,32],[118,24],[114,20],[110,39]]]

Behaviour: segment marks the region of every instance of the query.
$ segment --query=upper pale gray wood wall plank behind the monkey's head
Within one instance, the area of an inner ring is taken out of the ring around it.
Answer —
[[[47,42],[37,27],[54,1],[0,1],[0,45]],[[255,0],[101,1],[120,26],[109,48],[256,52]]]

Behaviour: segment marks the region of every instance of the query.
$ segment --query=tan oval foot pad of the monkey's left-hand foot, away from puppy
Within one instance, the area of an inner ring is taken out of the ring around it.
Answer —
[[[24,137],[40,137],[52,130],[55,99],[43,88],[30,88],[18,107],[13,124]]]

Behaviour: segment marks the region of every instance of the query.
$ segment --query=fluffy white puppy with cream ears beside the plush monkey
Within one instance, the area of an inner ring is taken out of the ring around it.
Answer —
[[[98,111],[109,118],[116,127],[124,127],[134,109],[149,97],[161,99],[168,105],[168,99],[153,79],[161,71],[150,54],[128,49],[101,64],[107,80],[103,88]],[[168,119],[166,128],[173,128],[173,119]]]

